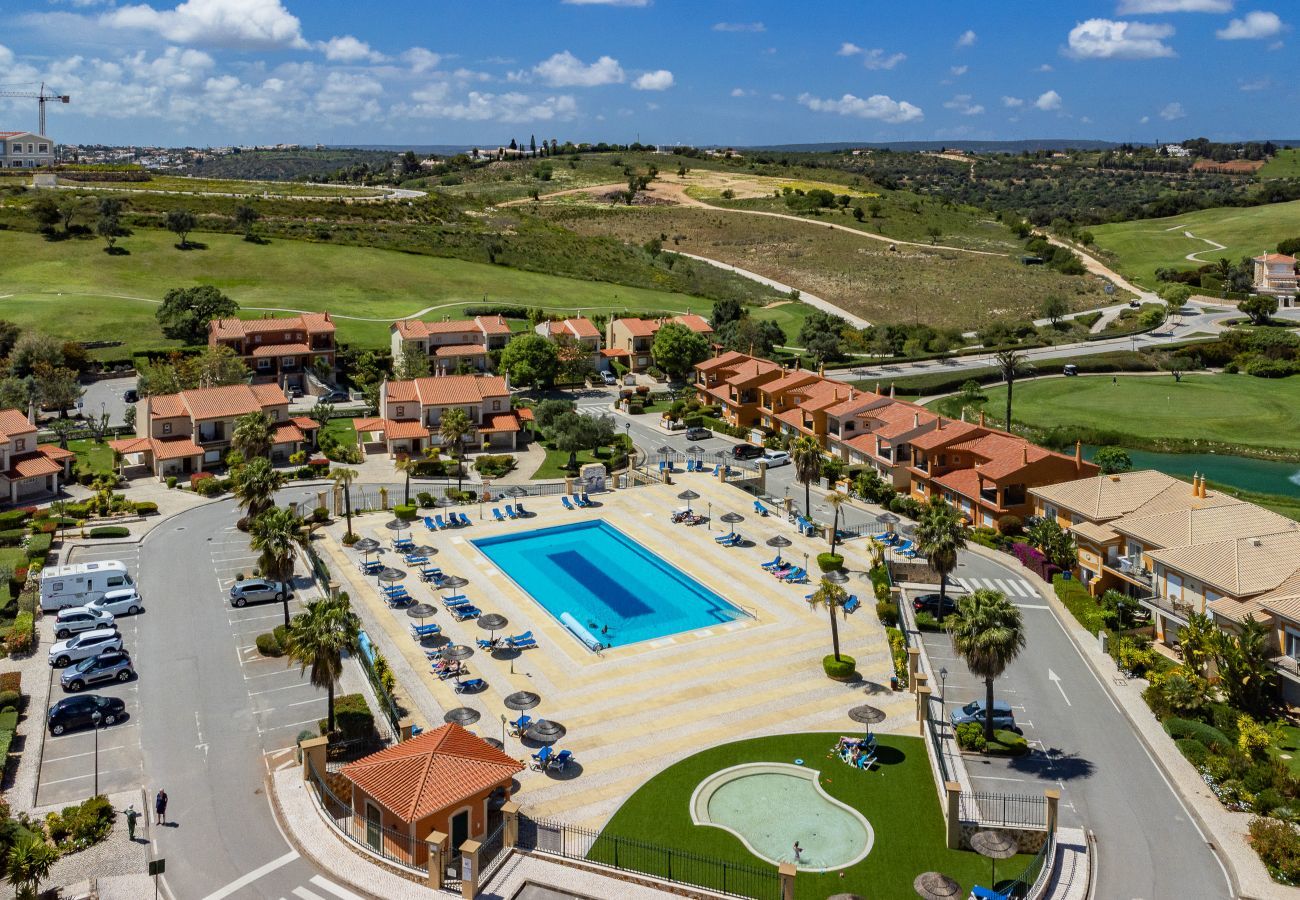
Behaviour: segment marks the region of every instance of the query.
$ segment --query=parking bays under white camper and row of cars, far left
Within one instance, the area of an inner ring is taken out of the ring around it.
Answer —
[[[139,550],[136,546],[103,546],[103,548],[73,548],[68,554],[68,563],[100,562],[105,559],[120,559],[126,563],[134,579],[139,574]],[[122,635],[122,646],[131,654],[133,665],[136,668],[136,678],[120,684],[108,682],[87,688],[87,693],[98,693],[105,697],[121,697],[126,704],[126,721],[110,727],[99,730],[99,789],[100,793],[113,793],[136,788],[144,773],[144,763],[140,754],[140,728],[139,728],[139,679],[148,678],[148,663],[142,662],[135,648],[140,628],[148,627],[148,597],[144,598],[146,609],[139,615],[124,615],[117,619],[117,629]],[[55,616],[46,615],[40,620],[42,648],[48,648],[55,641]],[[53,705],[64,697],[72,696],[58,684],[58,675],[62,668],[51,671],[49,704]],[[58,805],[84,800],[91,796],[95,788],[95,731],[83,730],[60,735],[55,737],[44,735],[44,745],[40,754],[40,780],[36,786],[36,805]]]

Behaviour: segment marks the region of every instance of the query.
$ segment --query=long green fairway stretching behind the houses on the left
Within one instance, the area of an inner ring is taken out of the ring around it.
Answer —
[[[179,251],[170,232],[140,229],[120,245],[129,256],[109,256],[100,241],[47,242],[0,232],[0,319],[69,341],[122,341],[98,351],[120,359],[177,346],[162,337],[153,313],[168,289],[194,284],[226,291],[246,317],[329,310],[339,341],[368,347],[386,347],[394,319],[429,307],[428,317],[463,315],[463,307],[484,302],[584,313],[707,312],[711,306],[686,294],[369,247],[252,245],[211,233],[195,239],[207,250]]]

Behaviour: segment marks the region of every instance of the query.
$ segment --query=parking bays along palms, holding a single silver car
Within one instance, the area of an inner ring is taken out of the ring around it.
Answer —
[[[316,734],[317,721],[325,717],[325,692],[312,687],[308,680],[311,670],[300,674],[299,666],[290,665],[287,658],[268,658],[257,653],[257,635],[283,624],[282,603],[254,603],[243,609],[230,606],[229,590],[235,576],[250,574],[257,564],[257,554],[248,549],[248,536],[231,525],[212,536],[208,548],[214,590],[226,609],[230,642],[239,659],[254,723],[268,765],[273,765],[274,757],[292,750],[299,732]],[[295,596],[289,602],[290,616],[315,596],[311,579],[300,574]]]

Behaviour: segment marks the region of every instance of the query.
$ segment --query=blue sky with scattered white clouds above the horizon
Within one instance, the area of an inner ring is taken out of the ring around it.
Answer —
[[[1292,4],[0,0],[0,90],[68,143],[1300,138]]]

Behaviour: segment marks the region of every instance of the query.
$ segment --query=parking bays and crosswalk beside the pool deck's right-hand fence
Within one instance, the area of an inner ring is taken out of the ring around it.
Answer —
[[[1048,607],[1039,602],[1032,585],[1019,579],[968,577],[958,579],[958,588],[949,589],[949,596],[959,597],[976,588],[988,588],[1006,594],[1011,602],[1020,607],[1024,616],[1050,615]],[[984,700],[984,682],[971,675],[966,663],[953,650],[946,635],[922,632],[922,640],[935,671],[948,670],[948,676],[941,679],[936,675],[932,685],[936,696],[944,695],[945,715],[950,717],[953,710],[972,700]],[[966,770],[976,791],[1036,796],[1041,796],[1043,791],[1046,789],[1061,791],[1061,823],[1079,826],[1082,821],[1071,802],[1067,787],[1067,782],[1075,776],[1074,773],[1067,771],[1071,762],[1050,748],[1052,736],[1043,734],[1040,724],[1035,723],[1035,717],[1041,715],[1043,710],[1028,709],[1022,696],[1024,693],[1023,682],[1030,676],[1028,666],[1018,661],[1013,662],[1006,672],[993,683],[994,700],[1010,704],[1015,724],[1028,743],[1030,752],[1026,756],[1010,758],[963,753]]]

